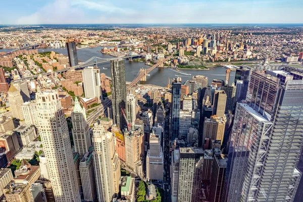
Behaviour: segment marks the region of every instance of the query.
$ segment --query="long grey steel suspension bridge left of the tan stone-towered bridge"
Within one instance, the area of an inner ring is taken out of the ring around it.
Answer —
[[[77,65],[77,66],[69,67],[69,68],[66,68],[66,69],[63,69],[63,70],[56,70],[56,71],[53,71],[53,72],[45,72],[45,73],[42,73],[42,74],[36,74],[36,75],[33,75],[33,76],[28,76],[28,77],[24,77],[24,78],[21,78],[21,79],[17,79],[16,81],[32,79],[32,78],[36,78],[40,75],[41,76],[47,76],[47,75],[51,75],[52,73],[62,73],[62,72],[66,72],[66,71],[72,70],[72,69],[82,69],[86,66],[92,66],[92,65],[96,65],[96,64],[100,64],[100,63],[106,63],[106,62],[109,62],[109,61],[112,61],[112,60],[134,58],[134,57],[139,57],[139,56],[143,56],[143,55],[144,54],[139,54],[139,55],[135,55],[135,56],[124,56],[124,57],[112,58],[112,59],[103,59],[103,58],[98,58],[98,57],[92,57],[89,60],[87,60],[84,63],[82,63],[80,65]],[[100,60],[103,60],[103,61],[96,61],[96,59],[100,59]],[[91,62],[92,60],[95,60],[95,61]]]

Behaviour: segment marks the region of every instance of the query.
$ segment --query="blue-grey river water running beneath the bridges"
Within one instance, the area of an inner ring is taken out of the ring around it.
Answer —
[[[77,50],[78,59],[84,62],[93,56],[104,58],[104,59],[115,58],[113,56],[97,52],[100,51],[101,48],[102,47],[79,49]],[[0,49],[0,52],[9,52],[9,51],[12,51],[12,49]],[[38,49],[39,53],[46,51],[54,51],[60,54],[67,55],[66,48],[39,48]],[[110,62],[99,64],[98,67],[101,73],[105,73],[107,76],[110,77],[112,76]],[[128,60],[125,60],[126,81],[132,81],[136,77],[140,68],[148,69],[150,68],[150,66],[145,65],[143,62],[130,62]],[[180,70],[178,72],[172,68],[156,68],[149,73],[150,76],[146,76],[146,84],[166,86],[168,82],[168,78],[173,79],[176,76],[181,77],[182,83],[184,83],[187,80],[191,80],[191,77],[194,75],[207,76],[209,78],[209,84],[212,82],[213,79],[225,80],[226,69],[224,67],[209,67],[209,69],[210,70]],[[232,71],[230,74],[230,84],[234,80],[234,77],[235,77],[235,72]]]

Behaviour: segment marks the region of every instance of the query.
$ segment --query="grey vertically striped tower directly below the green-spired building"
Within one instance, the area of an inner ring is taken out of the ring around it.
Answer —
[[[96,187],[93,173],[92,147],[87,151],[79,163],[79,170],[83,188],[84,200],[95,201]]]

